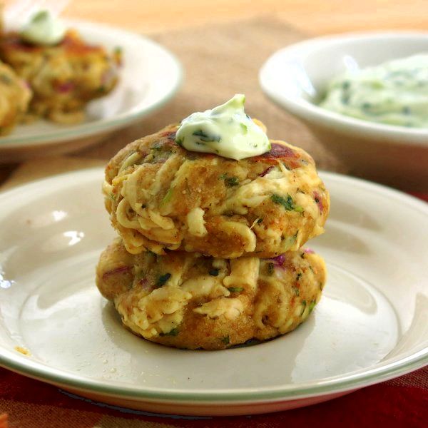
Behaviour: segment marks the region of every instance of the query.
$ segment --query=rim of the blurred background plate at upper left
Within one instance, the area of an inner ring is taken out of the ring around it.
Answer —
[[[126,125],[129,125],[135,121],[138,121],[139,118],[143,118],[153,113],[153,111],[158,110],[159,108],[165,106],[173,96],[178,92],[178,89],[183,85],[184,80],[184,68],[183,64],[178,60],[177,56],[173,54],[169,49],[167,49],[162,44],[154,41],[149,36],[139,34],[133,31],[128,31],[122,29],[118,26],[112,26],[109,24],[99,24],[98,22],[86,21],[83,19],[66,19],[67,24],[71,26],[76,26],[78,29],[79,26],[84,28],[85,26],[91,27],[96,31],[108,32],[115,31],[118,34],[123,34],[127,37],[135,37],[139,42],[152,46],[159,51],[162,51],[165,56],[167,56],[170,61],[175,66],[175,76],[173,84],[170,86],[168,92],[162,98],[158,99],[156,103],[153,103],[151,106],[145,108],[138,108],[137,111],[128,112],[128,113],[119,113],[118,115],[113,116],[108,119],[101,119],[89,123],[76,124],[76,126],[68,128],[58,128],[58,130],[44,131],[42,133],[37,133],[34,136],[16,136],[12,132],[8,136],[0,137],[0,153],[3,150],[19,150],[25,147],[32,147],[36,145],[41,146],[50,146],[51,144],[56,143],[66,143],[67,141],[78,140],[79,138],[86,138],[90,136],[96,136],[98,134],[112,132],[119,128],[123,128]]]

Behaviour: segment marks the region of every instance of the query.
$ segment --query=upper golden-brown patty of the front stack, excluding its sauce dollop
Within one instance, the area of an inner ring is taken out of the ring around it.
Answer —
[[[129,253],[270,258],[323,233],[329,194],[301,148],[270,141],[235,161],[185,150],[177,129],[133,141],[106,167],[106,208]]]

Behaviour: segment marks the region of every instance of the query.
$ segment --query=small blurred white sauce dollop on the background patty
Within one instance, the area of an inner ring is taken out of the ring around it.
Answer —
[[[39,11],[24,24],[19,36],[32,44],[51,46],[63,40],[66,27],[49,11]]]

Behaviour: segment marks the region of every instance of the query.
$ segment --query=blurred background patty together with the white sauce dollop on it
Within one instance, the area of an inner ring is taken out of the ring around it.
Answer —
[[[39,11],[20,32],[1,35],[0,58],[31,87],[27,121],[83,121],[86,104],[109,93],[118,81],[118,54],[88,44],[47,11]]]

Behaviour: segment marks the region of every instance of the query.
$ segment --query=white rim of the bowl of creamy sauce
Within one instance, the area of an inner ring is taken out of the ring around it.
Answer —
[[[278,61],[285,58],[293,58],[295,61],[302,55],[316,51],[321,46],[349,44],[355,41],[373,41],[374,39],[422,39],[427,42],[427,31],[356,31],[350,33],[319,36],[312,39],[297,42],[290,46],[275,51],[260,68],[259,84],[265,95],[282,108],[295,114],[308,125],[316,125],[341,133],[354,133],[362,138],[382,139],[384,143],[402,145],[403,142],[415,146],[428,146],[428,128],[405,128],[404,126],[386,125],[382,123],[364,121],[328,111],[319,107],[302,96],[292,96],[287,93],[278,92],[270,83],[269,76],[272,73],[280,73]],[[283,66],[282,66],[283,69]]]

